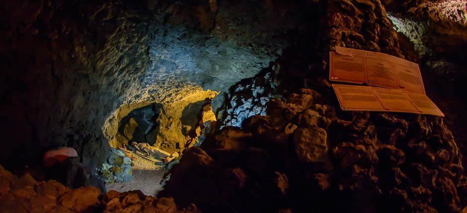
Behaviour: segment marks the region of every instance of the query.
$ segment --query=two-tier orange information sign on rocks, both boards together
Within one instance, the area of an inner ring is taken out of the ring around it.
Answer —
[[[370,85],[333,84],[343,110],[444,116],[426,96],[418,64],[384,53],[341,47],[329,54],[329,80]]]

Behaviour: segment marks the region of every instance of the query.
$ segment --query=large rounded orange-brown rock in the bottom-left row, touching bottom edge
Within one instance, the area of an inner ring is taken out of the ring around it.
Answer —
[[[60,205],[75,212],[84,212],[96,208],[99,204],[100,190],[94,187],[81,187],[63,195]]]

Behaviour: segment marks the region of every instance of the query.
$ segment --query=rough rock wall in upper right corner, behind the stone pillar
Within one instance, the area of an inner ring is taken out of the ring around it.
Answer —
[[[467,5],[464,0],[384,0],[391,20],[420,54],[426,86],[438,106],[447,114],[458,145],[464,152],[467,134],[465,103],[459,97],[466,90]],[[437,85],[436,87],[431,85]],[[445,88],[439,90],[439,88]],[[449,91],[449,92],[448,92]],[[464,153],[466,155],[466,153]]]

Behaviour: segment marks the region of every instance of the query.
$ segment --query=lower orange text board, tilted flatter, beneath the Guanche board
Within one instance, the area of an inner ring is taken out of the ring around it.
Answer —
[[[342,110],[410,112],[443,116],[426,96],[399,89],[333,84]]]

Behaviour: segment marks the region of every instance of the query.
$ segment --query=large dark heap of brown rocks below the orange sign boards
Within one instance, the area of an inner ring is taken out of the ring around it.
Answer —
[[[465,207],[461,155],[442,118],[336,111],[310,94],[317,95],[303,89],[286,102],[273,99],[268,115],[185,150],[159,195],[206,212]]]

